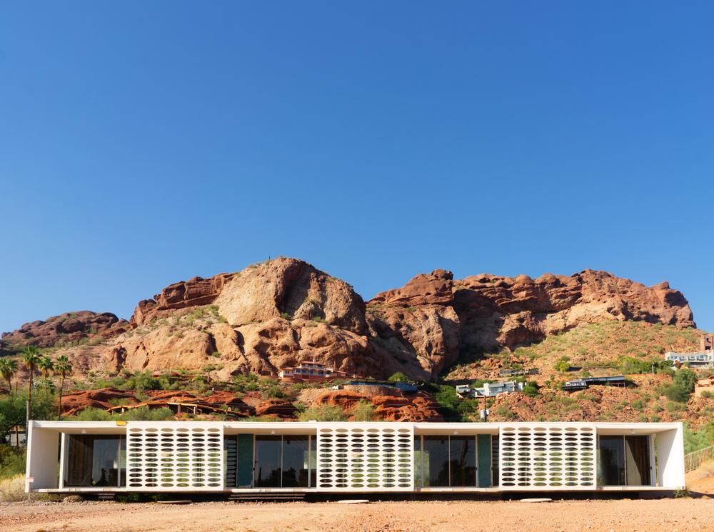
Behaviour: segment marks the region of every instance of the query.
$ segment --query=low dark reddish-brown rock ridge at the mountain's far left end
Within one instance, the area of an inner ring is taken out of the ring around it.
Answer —
[[[16,331],[2,333],[2,339],[23,346],[52,347],[59,341],[69,343],[98,334],[111,338],[124,332],[128,326],[126,320],[120,320],[111,312],[66,312],[45,321],[25,323]]]

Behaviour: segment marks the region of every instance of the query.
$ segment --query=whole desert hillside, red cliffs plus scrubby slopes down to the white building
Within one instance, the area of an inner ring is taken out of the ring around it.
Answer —
[[[65,355],[74,366],[71,378],[84,388],[129,390],[152,374],[208,373],[211,390],[218,386],[258,393],[261,401],[303,406],[330,400],[304,399],[294,383],[278,384],[282,368],[316,361],[353,376],[403,373],[431,383],[425,397],[438,403],[427,398],[409,406],[421,409],[413,415],[425,419],[473,416],[476,406],[457,405],[450,385],[496,380],[507,368],[538,368],[539,396],[499,397],[492,401],[493,419],[690,418],[700,424],[711,413],[708,400],[668,406],[672,401],[661,396],[673,376],[656,373],[654,365],[667,351],[696,351],[703,333],[683,294],[666,282],[646,287],[592,270],[536,279],[491,274],[454,279],[450,271],[436,270],[365,302],[342,279],[281,257],[174,283],[139,301],[129,321],[113,313],[78,311],[26,323],[3,333],[0,349],[5,356],[17,356],[28,346],[51,358]],[[560,373],[555,371],[560,361],[570,370],[562,371],[561,364]],[[632,378],[633,386],[624,390],[597,387],[577,396],[560,391],[563,381],[583,372],[639,375],[648,365],[656,374]],[[20,366],[15,380],[25,381],[27,372]],[[255,389],[241,384],[256,377]],[[169,384],[178,390],[176,383]],[[181,388],[201,396],[208,389],[206,383]],[[349,410],[360,399],[374,405],[383,401],[359,396],[334,398],[330,404]],[[78,400],[94,404],[89,396]],[[255,409],[259,402],[243,413],[265,413]],[[383,412],[388,418],[411,415]]]

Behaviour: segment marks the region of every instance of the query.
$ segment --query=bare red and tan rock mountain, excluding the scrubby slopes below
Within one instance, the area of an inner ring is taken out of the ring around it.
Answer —
[[[172,284],[140,301],[129,322],[82,311],[26,323],[3,333],[2,347],[64,349],[84,356],[79,371],[211,364],[230,380],[315,360],[359,376],[401,371],[433,380],[465,353],[512,351],[589,324],[628,320],[695,327],[687,300],[668,283],[648,288],[604,271],[454,280],[436,270],[365,303],[341,279],[280,258]]]

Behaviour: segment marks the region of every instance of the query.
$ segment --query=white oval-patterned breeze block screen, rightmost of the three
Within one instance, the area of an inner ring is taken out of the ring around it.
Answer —
[[[595,428],[501,428],[501,488],[595,487]]]

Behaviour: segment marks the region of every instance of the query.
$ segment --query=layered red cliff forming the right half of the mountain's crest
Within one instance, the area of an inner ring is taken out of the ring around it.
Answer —
[[[398,324],[410,323],[402,310],[407,306],[418,308],[410,312],[413,316],[425,308],[453,311],[456,318],[451,318],[451,323],[458,323],[459,327],[457,351],[468,346],[486,349],[525,346],[560,331],[610,320],[695,327],[688,301],[681,292],[670,289],[668,283],[648,288],[593,270],[573,276],[548,273],[537,279],[486,273],[457,280],[451,278],[450,272],[438,270],[428,276],[418,275],[402,288],[378,293],[370,303],[391,331],[398,331]],[[379,331],[379,336],[393,337],[393,333]],[[414,331],[411,338],[404,337],[406,343],[416,346],[418,338],[431,339],[433,334],[425,336]],[[390,351],[401,348],[393,341],[384,345]],[[424,347],[429,346],[433,347],[433,342]],[[441,345],[436,351],[445,356],[446,363],[453,360],[453,355],[448,355]]]

